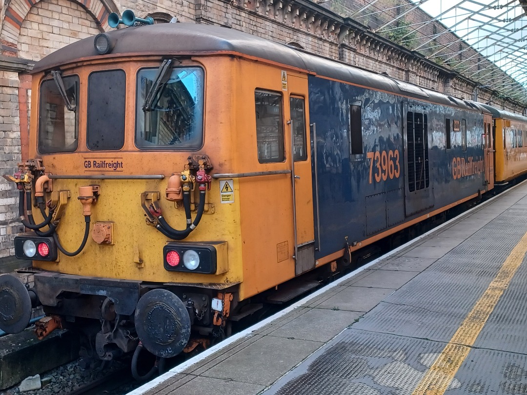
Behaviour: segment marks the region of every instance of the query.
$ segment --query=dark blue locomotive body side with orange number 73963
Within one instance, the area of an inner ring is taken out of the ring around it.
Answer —
[[[310,76],[309,120],[316,259],[484,190],[478,111]]]

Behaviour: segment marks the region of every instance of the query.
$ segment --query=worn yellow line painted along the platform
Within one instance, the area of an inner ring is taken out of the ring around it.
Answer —
[[[471,346],[483,329],[483,325],[500,300],[503,291],[507,288],[514,273],[520,267],[523,257],[527,252],[527,233],[500,268],[489,288],[476,302],[472,311],[461,323],[456,333],[450,339],[444,350],[437,357],[425,376],[417,384],[412,395],[441,395],[448,389],[457,370],[469,355]]]

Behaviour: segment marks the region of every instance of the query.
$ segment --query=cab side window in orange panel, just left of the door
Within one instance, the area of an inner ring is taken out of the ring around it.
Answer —
[[[256,143],[260,163],[284,162],[282,95],[255,91]]]

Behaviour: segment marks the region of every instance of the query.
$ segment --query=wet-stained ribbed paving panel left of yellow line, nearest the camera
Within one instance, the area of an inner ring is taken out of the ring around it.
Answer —
[[[347,329],[264,393],[407,395],[443,348],[428,340]]]

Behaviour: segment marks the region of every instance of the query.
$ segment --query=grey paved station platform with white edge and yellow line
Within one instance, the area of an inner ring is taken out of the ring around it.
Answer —
[[[524,182],[130,394],[525,394],[526,233]]]

